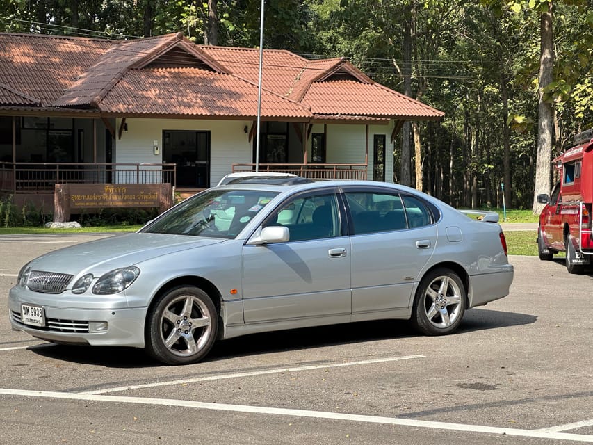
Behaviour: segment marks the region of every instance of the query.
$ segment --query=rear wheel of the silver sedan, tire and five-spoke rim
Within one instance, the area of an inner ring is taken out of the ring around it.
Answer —
[[[431,270],[416,289],[412,325],[427,335],[451,334],[462,321],[466,301],[465,286],[453,270]]]

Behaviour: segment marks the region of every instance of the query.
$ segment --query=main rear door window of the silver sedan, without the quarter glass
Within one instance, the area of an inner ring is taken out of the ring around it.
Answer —
[[[407,217],[398,193],[346,192],[354,234],[406,229]]]

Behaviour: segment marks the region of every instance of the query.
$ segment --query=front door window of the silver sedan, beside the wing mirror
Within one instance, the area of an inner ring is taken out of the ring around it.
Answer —
[[[300,196],[275,211],[264,226],[288,227],[289,242],[333,238],[341,235],[336,195]]]

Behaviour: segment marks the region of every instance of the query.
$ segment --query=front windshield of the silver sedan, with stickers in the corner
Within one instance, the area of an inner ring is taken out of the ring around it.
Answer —
[[[235,238],[277,194],[259,190],[211,189],[181,202],[140,232]]]

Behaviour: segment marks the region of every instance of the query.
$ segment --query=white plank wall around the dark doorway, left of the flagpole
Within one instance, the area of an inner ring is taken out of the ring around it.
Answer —
[[[237,120],[127,119],[128,131],[115,141],[116,163],[163,162],[163,130],[210,131],[210,184],[232,170],[234,163],[252,162],[252,143],[244,128],[251,122]],[[117,129],[121,120],[117,119]],[[161,154],[154,155],[154,140]]]

